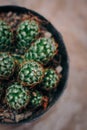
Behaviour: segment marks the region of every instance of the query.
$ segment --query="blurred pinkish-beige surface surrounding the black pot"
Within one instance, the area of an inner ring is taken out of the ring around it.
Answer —
[[[70,60],[67,88],[42,118],[0,130],[87,130],[87,0],[0,0],[46,17],[63,35]]]

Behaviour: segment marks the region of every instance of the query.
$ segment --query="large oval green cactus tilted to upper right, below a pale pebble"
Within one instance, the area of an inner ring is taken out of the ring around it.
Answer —
[[[47,64],[57,53],[57,44],[54,39],[40,38],[31,45],[25,53],[27,60],[34,60],[42,64]]]

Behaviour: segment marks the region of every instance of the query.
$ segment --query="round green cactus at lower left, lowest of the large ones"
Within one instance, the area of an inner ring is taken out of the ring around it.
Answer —
[[[14,110],[25,108],[30,100],[29,90],[14,83],[7,88],[5,100],[7,105]]]

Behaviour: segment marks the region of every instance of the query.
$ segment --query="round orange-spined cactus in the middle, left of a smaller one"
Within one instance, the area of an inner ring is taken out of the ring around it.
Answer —
[[[44,76],[42,65],[35,61],[23,63],[18,74],[18,81],[24,86],[35,86],[40,83]]]

